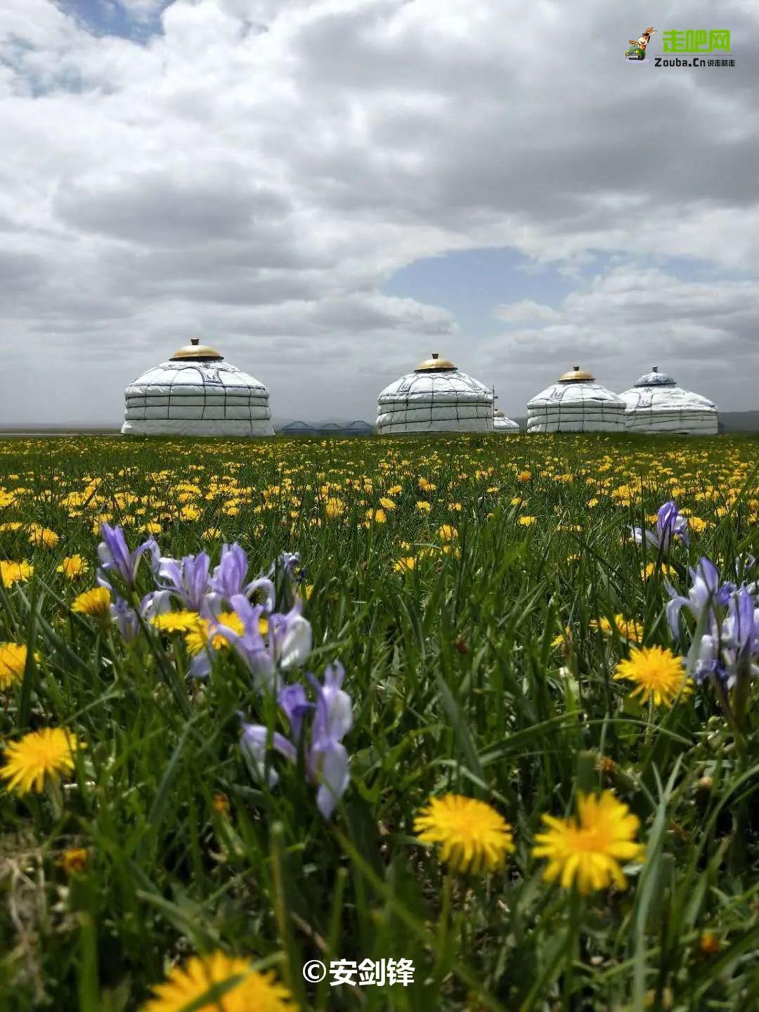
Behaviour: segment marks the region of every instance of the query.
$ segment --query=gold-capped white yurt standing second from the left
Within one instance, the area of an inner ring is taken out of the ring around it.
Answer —
[[[382,392],[376,431],[492,432],[493,393],[434,352]]]

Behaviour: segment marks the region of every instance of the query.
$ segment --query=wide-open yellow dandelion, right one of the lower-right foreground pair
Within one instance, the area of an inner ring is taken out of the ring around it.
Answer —
[[[627,880],[619,861],[643,860],[644,847],[636,843],[640,821],[610,790],[600,796],[577,795],[578,816],[555,819],[544,815],[544,833],[535,836],[533,857],[546,857],[545,881],[559,878],[564,889],[577,887],[585,895],[613,881],[620,890]]]

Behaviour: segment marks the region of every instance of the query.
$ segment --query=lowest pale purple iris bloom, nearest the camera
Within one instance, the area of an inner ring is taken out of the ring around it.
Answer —
[[[317,808],[324,819],[331,818],[350,782],[349,757],[342,738],[352,727],[353,713],[350,696],[342,689],[344,677],[340,664],[327,668],[324,684],[309,675],[317,694],[316,707],[308,702],[306,690],[299,683],[283,688],[278,698],[289,722],[291,738],[297,741],[301,739],[304,720],[310,711],[314,713],[311,743],[306,751],[306,776],[310,783],[317,785]],[[241,746],[254,761],[259,775],[265,769],[268,743],[290,762],[297,762],[298,749],[290,739],[278,733],[269,738],[263,725],[243,724]],[[277,780],[276,770],[269,769],[269,785],[273,786]]]

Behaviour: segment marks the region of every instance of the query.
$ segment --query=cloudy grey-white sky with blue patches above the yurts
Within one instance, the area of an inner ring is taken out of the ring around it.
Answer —
[[[0,424],[117,425],[195,334],[278,420],[433,350],[512,415],[576,363],[759,408],[759,4],[630,10],[3,0]]]

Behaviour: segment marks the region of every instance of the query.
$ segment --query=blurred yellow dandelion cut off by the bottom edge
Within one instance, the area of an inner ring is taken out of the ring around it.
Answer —
[[[213,990],[236,978],[237,983],[223,994]],[[296,1012],[298,1008],[273,972],[251,969],[247,959],[224,952],[194,955],[184,966],[172,966],[167,980],[153,988],[153,995],[143,1012],[181,1012],[190,1007],[197,1012]]]

